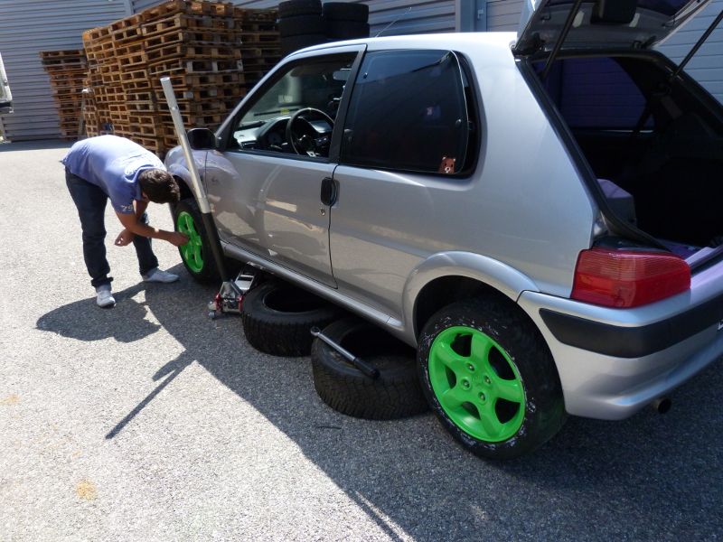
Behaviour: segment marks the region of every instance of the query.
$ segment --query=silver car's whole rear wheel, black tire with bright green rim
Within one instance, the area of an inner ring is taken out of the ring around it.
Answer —
[[[565,422],[548,346],[505,302],[459,302],[437,312],[419,337],[418,369],[442,425],[481,457],[531,453]]]

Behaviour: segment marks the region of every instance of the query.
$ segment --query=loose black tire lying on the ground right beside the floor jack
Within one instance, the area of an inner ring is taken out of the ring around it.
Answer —
[[[304,289],[272,281],[251,289],[241,311],[243,331],[255,349],[274,356],[307,356],[314,337],[344,314],[336,305]]]

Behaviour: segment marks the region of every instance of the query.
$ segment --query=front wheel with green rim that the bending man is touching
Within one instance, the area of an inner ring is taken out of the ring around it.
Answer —
[[[176,231],[189,238],[187,244],[178,248],[178,252],[183,266],[193,280],[201,284],[221,281],[218,266],[211,252],[211,242],[206,235],[201,211],[195,200],[188,198],[174,205],[174,226]]]

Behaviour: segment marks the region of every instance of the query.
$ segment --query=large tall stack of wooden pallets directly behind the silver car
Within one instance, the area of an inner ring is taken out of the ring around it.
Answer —
[[[276,10],[172,0],[83,33],[94,98],[88,134],[112,127],[157,154],[176,145],[162,77],[185,126],[218,126],[279,60],[276,19]]]

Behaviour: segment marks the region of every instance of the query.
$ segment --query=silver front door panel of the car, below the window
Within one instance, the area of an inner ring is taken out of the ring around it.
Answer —
[[[220,234],[230,243],[334,285],[329,209],[319,201],[333,164],[242,152],[211,153],[206,185]]]

